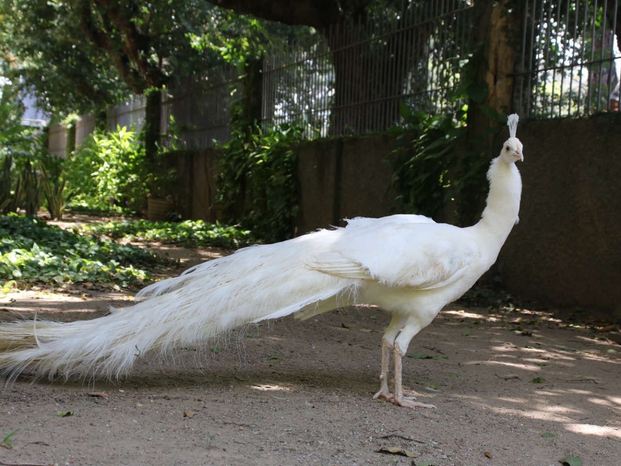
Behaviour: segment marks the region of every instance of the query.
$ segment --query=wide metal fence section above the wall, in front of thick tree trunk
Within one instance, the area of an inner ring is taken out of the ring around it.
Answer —
[[[333,27],[271,53],[263,66],[263,124],[294,122],[306,137],[383,131],[399,103],[438,112],[471,52],[472,2],[404,2],[364,24]]]

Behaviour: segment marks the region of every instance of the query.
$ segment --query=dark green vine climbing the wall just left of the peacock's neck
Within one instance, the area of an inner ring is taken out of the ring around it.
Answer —
[[[470,102],[470,106],[463,104],[456,113],[435,116],[414,111],[405,104],[399,107],[402,124],[392,129],[398,134],[399,147],[387,162],[394,170],[396,200],[407,213],[435,218],[448,214],[448,220],[460,226],[476,221],[487,193],[486,165],[491,160],[491,150],[468,149],[468,110],[478,109],[495,124],[507,121],[506,115],[481,105],[489,92],[487,84],[476,79],[482,60],[482,55],[474,54],[461,63],[460,85],[447,96],[456,102]],[[494,135],[501,127],[491,126],[483,136]],[[450,208],[448,212],[446,206]]]

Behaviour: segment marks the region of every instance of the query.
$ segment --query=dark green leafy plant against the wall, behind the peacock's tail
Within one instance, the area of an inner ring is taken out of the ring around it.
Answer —
[[[290,238],[297,215],[299,184],[296,145],[301,130],[236,124],[220,146],[216,204],[224,222],[238,223],[261,242]]]

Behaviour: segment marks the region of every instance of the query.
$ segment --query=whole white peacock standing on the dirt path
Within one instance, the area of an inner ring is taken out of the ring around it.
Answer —
[[[517,222],[523,158],[510,138],[487,173],[487,206],[468,228],[416,215],[357,217],[347,227],[239,250],[138,293],[138,303],[93,321],[17,321],[0,325],[0,370],[35,374],[127,373],[147,351],[166,354],[250,322],[311,316],[353,304],[393,314],[382,340],[382,396],[401,406],[401,356],[442,307],[459,298],[492,263]],[[388,390],[389,355],[395,390]],[[423,405],[424,406],[424,405]]]

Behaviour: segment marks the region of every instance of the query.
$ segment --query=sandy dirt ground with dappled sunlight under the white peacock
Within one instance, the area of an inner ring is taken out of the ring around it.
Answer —
[[[219,254],[153,247],[182,259],[171,275]],[[130,299],[77,287],[0,309],[70,321]],[[412,410],[373,400],[388,322],[375,308],[284,318],[114,383],[19,378],[0,391],[0,439],[20,429],[0,465],[621,464],[621,346],[592,326],[452,304],[404,358],[406,390],[437,405]]]

